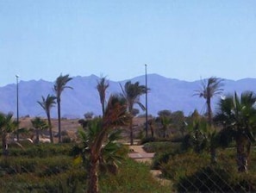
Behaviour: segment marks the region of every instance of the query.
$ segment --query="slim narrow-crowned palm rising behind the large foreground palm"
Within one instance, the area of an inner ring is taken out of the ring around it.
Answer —
[[[106,100],[106,90],[109,88],[109,81],[105,77],[100,78],[99,81],[97,81],[97,91],[100,96],[100,101],[102,104],[102,112],[104,115],[105,112],[105,100]]]

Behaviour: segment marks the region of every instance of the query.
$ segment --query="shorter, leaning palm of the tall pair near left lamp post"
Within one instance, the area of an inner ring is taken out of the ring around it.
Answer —
[[[47,121],[48,121],[48,127],[49,127],[49,133],[50,133],[50,140],[51,143],[53,143],[53,131],[52,131],[52,121],[51,121],[51,109],[54,107],[56,96],[50,96],[47,95],[47,98],[44,96],[41,96],[41,101],[38,101],[41,105],[41,108],[46,111],[47,114]]]

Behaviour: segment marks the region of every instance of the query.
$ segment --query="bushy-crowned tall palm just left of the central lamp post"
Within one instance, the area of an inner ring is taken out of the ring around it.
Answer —
[[[120,84],[121,88],[122,85]],[[140,85],[139,82],[135,82],[134,84],[131,81],[126,82],[124,88],[122,88],[122,94],[126,98],[128,103],[128,112],[131,115],[129,122],[129,130],[130,130],[130,144],[134,145],[134,130],[133,130],[133,110],[134,104],[138,104],[140,109],[145,110],[146,108],[142,103],[140,103],[140,96],[146,94],[147,87],[145,85]]]

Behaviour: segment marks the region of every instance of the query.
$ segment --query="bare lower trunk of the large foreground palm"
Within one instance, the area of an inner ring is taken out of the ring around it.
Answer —
[[[87,193],[98,193],[97,158],[91,154]]]

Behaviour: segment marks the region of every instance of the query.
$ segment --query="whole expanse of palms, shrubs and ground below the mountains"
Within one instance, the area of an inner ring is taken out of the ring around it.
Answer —
[[[256,96],[252,91],[222,97],[213,113],[211,99],[222,93],[224,82],[206,79],[195,90],[196,96],[205,99],[205,114],[197,109],[190,115],[159,109],[156,117],[147,117],[152,136],[146,137],[140,96],[149,88],[128,81],[121,85],[122,93],[106,98],[109,82],[100,78],[96,89],[102,115],[87,112],[84,119],[65,120],[60,95],[71,88],[66,85],[69,81],[68,75],[60,75],[53,88],[56,96],[42,96],[37,102],[47,118],[28,118],[26,124],[27,119],[20,119],[22,128],[16,130],[13,115],[0,114],[1,192],[256,191]],[[55,103],[58,120],[50,114]],[[151,165],[128,158],[127,144],[134,145],[134,139],[146,152],[155,153]],[[160,184],[150,169],[160,170],[161,177],[171,183]]]

